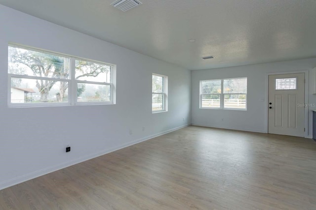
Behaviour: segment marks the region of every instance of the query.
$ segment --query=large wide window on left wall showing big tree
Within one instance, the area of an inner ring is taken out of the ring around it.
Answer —
[[[107,63],[10,45],[9,106],[111,104],[113,67]]]

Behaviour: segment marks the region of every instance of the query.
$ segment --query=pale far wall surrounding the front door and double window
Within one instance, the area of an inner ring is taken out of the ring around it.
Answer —
[[[192,71],[192,124],[220,127],[228,129],[267,132],[266,110],[268,89],[266,79],[269,73],[309,71],[308,103],[316,103],[316,95],[312,94],[315,84],[312,69],[316,66],[316,59],[291,60],[282,62],[245,65],[228,68]],[[247,77],[247,111],[199,109],[199,81],[209,79],[225,79]],[[264,98],[264,101],[260,101]],[[312,138],[312,111],[316,107],[308,107],[308,136]],[[223,121],[222,121],[223,119]]]

